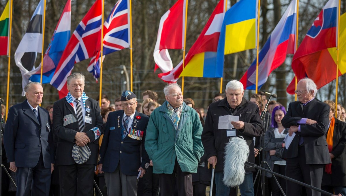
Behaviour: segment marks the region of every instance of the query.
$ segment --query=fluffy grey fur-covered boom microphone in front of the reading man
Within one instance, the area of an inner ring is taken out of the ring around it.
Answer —
[[[244,182],[249,146],[242,136],[231,137],[225,147],[224,184],[235,187]]]

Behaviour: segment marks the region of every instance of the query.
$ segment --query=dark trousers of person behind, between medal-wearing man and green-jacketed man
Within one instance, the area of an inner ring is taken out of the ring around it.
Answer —
[[[158,174],[153,173],[153,167],[149,166],[142,177],[143,196],[156,196],[158,191]]]

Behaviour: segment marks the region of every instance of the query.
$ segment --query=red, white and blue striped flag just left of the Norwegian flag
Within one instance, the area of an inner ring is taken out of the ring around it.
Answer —
[[[55,68],[58,66],[59,60],[65,50],[71,36],[71,0],[67,0],[63,13],[55,27],[51,42],[43,57],[43,75],[42,83],[51,82]],[[40,82],[41,80],[41,64],[34,70],[25,74],[30,81]],[[67,90],[67,89],[66,89]],[[62,93],[66,93],[64,91]]]

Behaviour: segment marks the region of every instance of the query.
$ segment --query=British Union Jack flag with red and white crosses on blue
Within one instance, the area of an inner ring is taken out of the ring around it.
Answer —
[[[109,53],[130,47],[129,0],[119,0],[103,24],[103,57]],[[98,39],[97,51],[91,58],[88,71],[94,78],[100,76],[101,39]]]

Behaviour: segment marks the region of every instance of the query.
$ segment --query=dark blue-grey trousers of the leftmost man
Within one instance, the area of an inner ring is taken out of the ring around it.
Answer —
[[[18,167],[16,172],[17,196],[48,196],[51,187],[51,168],[46,169],[42,152],[34,168]]]

